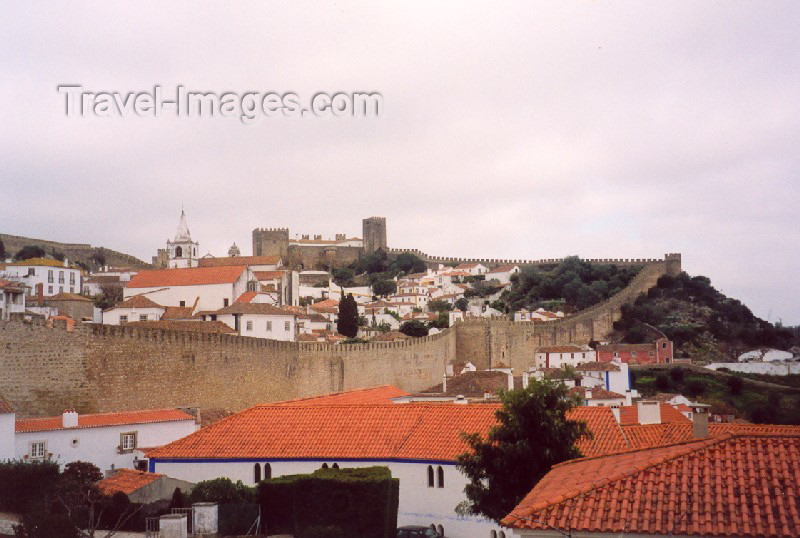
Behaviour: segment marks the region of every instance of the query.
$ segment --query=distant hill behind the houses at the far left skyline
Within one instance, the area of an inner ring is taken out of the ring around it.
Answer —
[[[55,253],[56,256],[54,257],[58,257],[63,254],[70,261],[85,268],[97,268],[98,260],[104,260],[104,264],[101,265],[115,267],[130,267],[133,269],[150,267],[149,263],[129,254],[105,247],[93,247],[87,243],[59,243],[58,241],[49,241],[47,239],[34,239],[9,234],[0,234],[0,241],[3,242],[8,257],[13,256],[25,246],[40,246],[48,255]]]

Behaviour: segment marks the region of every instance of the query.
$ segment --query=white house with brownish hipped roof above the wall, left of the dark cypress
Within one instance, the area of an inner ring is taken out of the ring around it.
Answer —
[[[203,319],[221,321],[240,336],[297,340],[298,315],[290,310],[265,303],[234,303],[214,312],[204,312]]]

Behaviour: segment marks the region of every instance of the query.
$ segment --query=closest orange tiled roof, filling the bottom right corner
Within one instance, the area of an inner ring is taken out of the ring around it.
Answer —
[[[502,523],[572,532],[800,535],[800,433],[723,435],[561,463]]]

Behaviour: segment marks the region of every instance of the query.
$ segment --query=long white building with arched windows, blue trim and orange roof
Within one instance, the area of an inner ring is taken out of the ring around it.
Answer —
[[[251,407],[149,452],[150,471],[199,482],[218,477],[252,485],[322,466],[385,465],[400,479],[398,525],[435,525],[449,538],[488,537],[500,527],[458,516],[466,477],[455,457],[462,431],[485,435],[497,405],[301,405]]]

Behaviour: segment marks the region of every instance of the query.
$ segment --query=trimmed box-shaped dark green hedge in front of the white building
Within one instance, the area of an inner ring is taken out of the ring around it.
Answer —
[[[319,469],[258,486],[267,534],[394,538],[400,481],[387,467]]]

